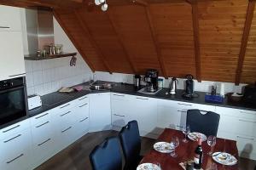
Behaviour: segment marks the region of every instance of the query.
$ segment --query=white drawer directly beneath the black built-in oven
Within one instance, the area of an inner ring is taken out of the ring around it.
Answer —
[[[17,122],[9,127],[4,127],[0,131],[0,139],[6,139],[9,136],[15,135],[30,126],[29,119],[22,122]]]

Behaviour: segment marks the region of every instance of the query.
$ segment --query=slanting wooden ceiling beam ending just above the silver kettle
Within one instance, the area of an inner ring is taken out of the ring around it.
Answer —
[[[151,14],[150,14],[150,9],[148,7],[144,7],[144,8],[145,8],[145,12],[146,12],[146,15],[147,15],[148,25],[149,25],[151,37],[152,37],[153,42],[154,42],[154,48],[156,50],[157,59],[158,59],[159,64],[160,64],[161,72],[162,72],[162,74],[165,78],[168,78],[168,75],[166,73],[166,65],[165,65],[165,62],[164,62],[163,57],[162,57],[159,40],[158,40],[157,35],[155,33],[154,23],[153,23]]]

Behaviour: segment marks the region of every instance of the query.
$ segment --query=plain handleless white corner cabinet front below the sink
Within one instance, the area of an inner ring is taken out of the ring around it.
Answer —
[[[90,94],[90,132],[111,129],[110,93]]]

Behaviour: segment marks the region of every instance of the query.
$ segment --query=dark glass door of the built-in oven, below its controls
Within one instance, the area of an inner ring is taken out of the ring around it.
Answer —
[[[25,90],[19,86],[0,91],[0,126],[27,115]]]

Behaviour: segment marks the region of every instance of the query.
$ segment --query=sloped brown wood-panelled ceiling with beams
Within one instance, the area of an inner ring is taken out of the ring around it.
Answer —
[[[256,81],[255,0],[0,0],[54,9],[92,71]]]

